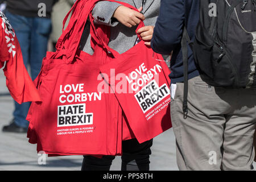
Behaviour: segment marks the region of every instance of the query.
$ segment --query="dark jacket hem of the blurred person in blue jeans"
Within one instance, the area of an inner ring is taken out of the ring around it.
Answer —
[[[51,16],[52,6],[57,0],[8,0],[7,10],[10,13],[28,16],[38,17],[38,11],[42,6],[40,3],[46,5],[46,18]]]

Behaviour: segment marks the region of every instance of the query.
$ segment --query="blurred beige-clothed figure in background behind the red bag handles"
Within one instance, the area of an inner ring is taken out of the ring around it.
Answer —
[[[56,51],[56,43],[57,40],[60,38],[60,35],[62,34],[62,28],[63,28],[63,19],[68,14],[68,11],[73,6],[73,0],[59,0],[52,8],[52,33],[50,36],[53,51]],[[69,19],[67,20],[67,23],[65,24],[65,27],[67,27],[69,22]]]

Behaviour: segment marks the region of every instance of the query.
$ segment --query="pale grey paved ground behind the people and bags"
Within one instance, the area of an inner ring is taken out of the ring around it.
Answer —
[[[0,170],[80,170],[82,156],[61,156],[46,159],[46,165],[38,164],[36,145],[28,143],[26,134],[2,133],[2,126],[12,119],[13,99],[7,95],[5,77],[0,70]],[[177,170],[175,139],[172,130],[154,140],[151,170]],[[121,159],[113,161],[111,170],[121,169]]]

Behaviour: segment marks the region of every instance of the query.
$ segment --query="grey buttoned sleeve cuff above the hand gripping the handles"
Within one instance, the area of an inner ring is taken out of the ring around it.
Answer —
[[[98,2],[92,11],[94,23],[105,24],[107,26],[116,26],[118,24],[118,21],[114,20],[112,16],[115,10],[119,6],[121,5],[116,2],[109,2],[109,1]]]

